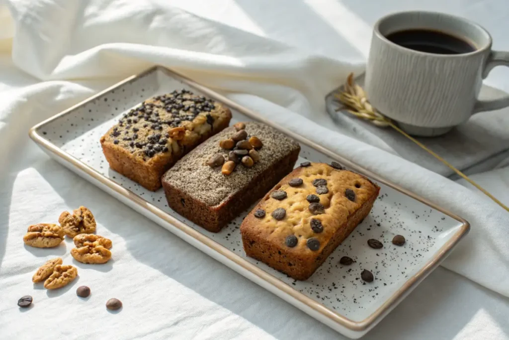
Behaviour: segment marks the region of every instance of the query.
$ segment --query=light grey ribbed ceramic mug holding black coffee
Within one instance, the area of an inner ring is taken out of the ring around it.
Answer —
[[[389,41],[404,30],[433,30],[472,46],[461,54],[434,54]],[[509,66],[509,52],[491,49],[490,34],[480,25],[434,12],[400,12],[375,24],[366,67],[367,98],[409,134],[438,136],[477,112],[509,106],[509,97],[480,101],[483,79],[498,65]]]

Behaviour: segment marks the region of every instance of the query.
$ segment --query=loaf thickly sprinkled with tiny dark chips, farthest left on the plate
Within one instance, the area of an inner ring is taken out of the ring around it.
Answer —
[[[111,169],[155,191],[164,171],[231,118],[219,102],[173,91],[130,110],[101,137],[101,146]]]

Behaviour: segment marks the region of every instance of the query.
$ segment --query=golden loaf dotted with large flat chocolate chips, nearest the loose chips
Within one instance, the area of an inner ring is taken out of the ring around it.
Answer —
[[[337,163],[302,163],[265,195],[240,231],[246,254],[306,280],[373,207],[380,188]]]

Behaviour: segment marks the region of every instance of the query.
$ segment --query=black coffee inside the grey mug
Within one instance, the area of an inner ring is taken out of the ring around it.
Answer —
[[[390,33],[386,38],[403,47],[438,55],[459,55],[476,48],[465,40],[445,32],[411,29]]]

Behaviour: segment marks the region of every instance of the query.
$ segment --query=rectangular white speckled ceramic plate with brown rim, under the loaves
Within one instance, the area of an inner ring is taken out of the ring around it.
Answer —
[[[338,161],[362,173],[381,187],[371,214],[329,256],[307,281],[295,281],[256,260],[242,249],[239,225],[246,213],[220,233],[210,233],[176,214],[161,190],[150,192],[119,173],[104,159],[99,138],[121,115],[147,97],[190,89],[223,102],[233,121],[258,120],[299,141],[300,159]],[[34,126],[31,138],[56,161],[159,223],[224,265],[262,285],[280,298],[346,336],[357,338],[375,326],[468,232],[468,223],[443,208],[384,180],[331,151],[281,129],[256,113],[162,67],[153,67]],[[395,234],[407,242],[391,243]],[[382,249],[367,246],[368,239],[383,242]],[[347,255],[355,260],[342,266]],[[375,280],[365,283],[363,269]]]

